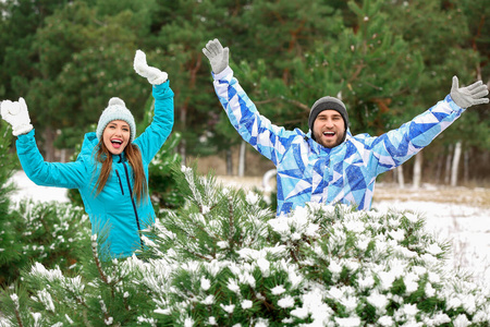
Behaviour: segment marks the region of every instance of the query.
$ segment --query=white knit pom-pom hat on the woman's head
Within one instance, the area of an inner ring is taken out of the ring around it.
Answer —
[[[109,100],[109,106],[100,114],[99,123],[97,124],[97,138],[102,140],[102,133],[107,124],[113,120],[123,120],[130,125],[131,138],[134,141],[136,136],[136,124],[134,123],[134,117],[126,108],[124,101],[120,98],[113,97]]]

